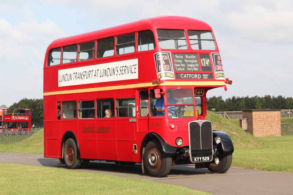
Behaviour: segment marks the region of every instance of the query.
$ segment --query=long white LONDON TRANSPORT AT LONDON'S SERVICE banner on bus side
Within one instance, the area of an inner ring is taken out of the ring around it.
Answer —
[[[138,79],[138,59],[58,70],[58,87]]]

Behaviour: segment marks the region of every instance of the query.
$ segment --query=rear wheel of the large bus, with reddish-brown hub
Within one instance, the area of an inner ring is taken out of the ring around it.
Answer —
[[[66,140],[64,145],[64,162],[70,169],[79,169],[81,162],[77,156],[77,147],[72,138]]]

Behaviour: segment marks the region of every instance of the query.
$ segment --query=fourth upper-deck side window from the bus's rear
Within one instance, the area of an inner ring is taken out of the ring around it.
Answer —
[[[97,43],[97,58],[114,55],[114,37],[99,39]]]

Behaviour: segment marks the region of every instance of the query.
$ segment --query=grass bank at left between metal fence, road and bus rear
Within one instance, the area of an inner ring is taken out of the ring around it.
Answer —
[[[44,130],[39,130],[39,132],[36,132],[34,135],[19,143],[0,144],[0,152],[43,153]]]

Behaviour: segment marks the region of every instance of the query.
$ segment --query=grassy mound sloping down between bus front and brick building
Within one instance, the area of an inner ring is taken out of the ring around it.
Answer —
[[[235,122],[225,119],[222,116],[215,115],[213,112],[208,111],[206,120],[212,121],[213,129],[226,132],[231,137],[235,148],[266,146],[265,141],[245,132],[242,128],[237,126]]]

